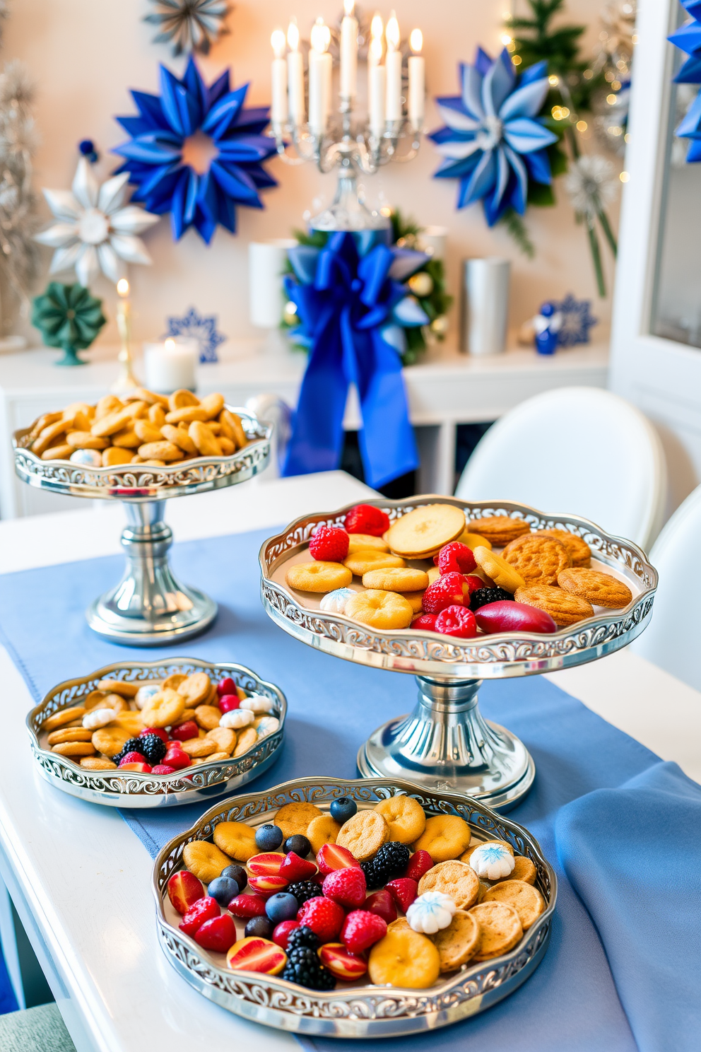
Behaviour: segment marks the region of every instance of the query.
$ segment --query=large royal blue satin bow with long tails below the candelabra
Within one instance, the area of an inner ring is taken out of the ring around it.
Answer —
[[[418,465],[401,377],[404,329],[428,317],[403,284],[428,256],[391,248],[385,231],[336,232],[324,248],[297,245],[285,279],[309,347],[284,474],[338,467],[348,385],[363,414],[360,454],[368,485],[378,488]]]

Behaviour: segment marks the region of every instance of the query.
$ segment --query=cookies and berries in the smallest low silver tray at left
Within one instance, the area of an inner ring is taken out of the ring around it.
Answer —
[[[280,728],[272,699],[206,672],[101,680],[81,703],[48,716],[38,734],[42,748],[90,771],[174,774],[243,756]]]

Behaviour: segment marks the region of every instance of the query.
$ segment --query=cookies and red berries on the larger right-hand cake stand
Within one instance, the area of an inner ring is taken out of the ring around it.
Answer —
[[[467,520],[452,504],[420,505],[394,522],[358,504],[344,526],[314,529],[309,554],[287,567],[287,585],[322,593],[322,610],[377,631],[551,633],[633,600],[622,581],[591,568],[578,534],[532,531],[518,515]]]

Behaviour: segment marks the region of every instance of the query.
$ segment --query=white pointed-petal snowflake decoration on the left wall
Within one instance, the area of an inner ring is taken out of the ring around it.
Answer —
[[[100,270],[117,282],[126,263],[151,263],[139,234],[159,217],[136,204],[126,204],[129,173],[112,176],[104,183],[96,179],[89,163],[81,157],[69,190],[44,189],[56,222],[35,240],[55,248],[49,274],[76,270],[88,287]]]

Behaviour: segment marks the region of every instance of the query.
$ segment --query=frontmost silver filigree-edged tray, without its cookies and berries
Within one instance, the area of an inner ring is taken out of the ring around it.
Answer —
[[[426,990],[355,983],[321,993],[280,976],[231,971],[226,967],[224,954],[203,950],[193,938],[179,931],[177,924],[181,918],[167,897],[168,878],[182,868],[185,845],[210,837],[220,822],[262,825],[284,804],[300,801],[309,801],[328,811],[332,800],[346,795],[352,796],[358,808],[369,808],[396,793],[413,796],[430,813],[457,814],[469,823],[476,839],[508,841],[516,854],[531,858],[537,869],[535,883],[545,899],[545,910],[509,953],[465,965]],[[265,792],[222,801],[191,829],[166,844],[156,859],[152,887],[161,946],[176,971],[201,994],[236,1015],[279,1030],[348,1038],[400,1037],[436,1030],[476,1015],[513,993],[545,953],[557,898],[557,877],[538,842],[522,826],[465,795],[426,791],[411,782],[387,778],[339,782],[305,777]]]

